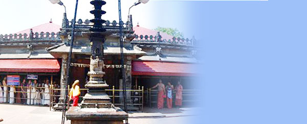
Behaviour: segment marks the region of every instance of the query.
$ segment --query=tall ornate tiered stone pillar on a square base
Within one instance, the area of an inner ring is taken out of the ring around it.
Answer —
[[[91,1],[95,9],[91,11],[95,18],[90,20],[94,23],[90,29],[91,41],[91,64],[90,71],[87,75],[90,76],[90,81],[86,82],[85,88],[89,90],[83,97],[81,107],[71,107],[66,118],[71,120],[72,124],[89,124],[89,123],[106,123],[106,124],[123,124],[123,120],[128,118],[128,114],[120,108],[116,108],[111,103],[111,98],[105,93],[108,87],[103,80],[103,43],[105,42],[105,29],[102,28],[102,23],[105,20],[101,19],[101,15],[105,11],[101,10],[101,6],[106,3],[101,0]]]

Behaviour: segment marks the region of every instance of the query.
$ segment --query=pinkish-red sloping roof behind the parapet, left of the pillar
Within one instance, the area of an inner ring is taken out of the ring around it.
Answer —
[[[42,25],[39,25],[39,26],[35,26],[33,28],[29,28],[29,29],[23,30],[23,31],[19,31],[16,34],[20,34],[20,33],[24,34],[24,33],[26,33],[26,34],[29,35],[30,29],[32,29],[33,33],[35,33],[35,32],[38,32],[38,33],[40,33],[40,32],[45,32],[45,33],[46,32],[49,32],[49,33],[54,32],[54,33],[57,33],[57,32],[60,31],[60,28],[61,28],[61,26],[56,25],[54,23],[46,23],[46,24],[42,24]]]

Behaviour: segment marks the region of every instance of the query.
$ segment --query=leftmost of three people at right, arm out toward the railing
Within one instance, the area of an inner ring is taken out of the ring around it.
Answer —
[[[158,87],[157,106],[158,106],[158,109],[162,109],[163,108],[163,104],[164,104],[165,87],[164,87],[164,84],[162,83],[161,79],[159,79],[159,83],[156,86],[153,86],[150,89],[153,89],[153,88],[156,88],[156,87]]]

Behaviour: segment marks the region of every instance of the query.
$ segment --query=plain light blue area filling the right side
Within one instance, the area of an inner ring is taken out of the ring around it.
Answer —
[[[193,123],[307,123],[306,1],[165,4],[199,39]]]

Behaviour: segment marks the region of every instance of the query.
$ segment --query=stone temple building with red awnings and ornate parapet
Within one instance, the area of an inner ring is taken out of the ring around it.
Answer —
[[[65,87],[67,59],[70,51],[72,22],[63,17],[62,26],[49,22],[16,34],[0,35],[0,80],[7,75],[38,75],[48,78],[58,88]],[[76,21],[75,40],[71,61],[71,81],[79,79],[81,88],[89,80],[91,22]],[[119,24],[103,24],[105,81],[112,89],[122,89]],[[123,25],[126,89],[145,89],[155,86],[159,79],[176,85],[181,81],[185,89],[193,78],[191,65],[198,63],[195,39],[176,38],[163,32],[133,26],[131,19]],[[70,85],[72,82],[70,82]],[[61,92],[63,94],[63,92]],[[84,95],[82,93],[81,95]],[[127,93],[127,96],[132,95]],[[128,99],[129,102],[129,99]]]

